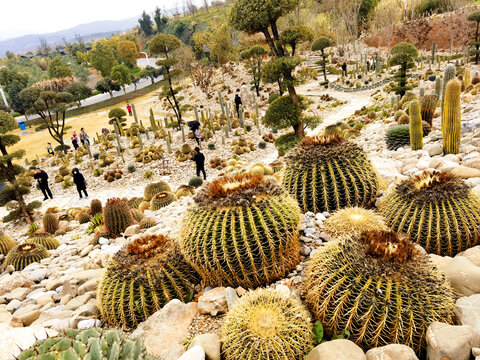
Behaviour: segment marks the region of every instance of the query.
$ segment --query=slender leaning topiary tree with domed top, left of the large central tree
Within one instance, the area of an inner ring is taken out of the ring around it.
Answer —
[[[160,99],[166,99],[170,104],[173,112],[178,121],[178,126],[182,124],[182,111],[184,108],[180,106],[180,101],[183,97],[178,96],[178,93],[182,90],[180,86],[174,87],[173,82],[181,74],[180,69],[174,69],[175,64],[178,63],[178,59],[172,57],[172,52],[178,49],[182,45],[182,42],[173,35],[158,34],[150,41],[149,49],[152,55],[160,54],[165,59],[158,60],[157,65],[162,66],[165,70],[165,74],[162,80],[163,88],[160,93]]]

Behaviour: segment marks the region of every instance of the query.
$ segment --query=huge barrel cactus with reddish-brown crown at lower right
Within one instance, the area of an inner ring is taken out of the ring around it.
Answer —
[[[320,250],[307,269],[306,303],[328,336],[348,330],[364,349],[398,343],[420,355],[432,322],[454,322],[448,281],[421,248],[390,230]]]

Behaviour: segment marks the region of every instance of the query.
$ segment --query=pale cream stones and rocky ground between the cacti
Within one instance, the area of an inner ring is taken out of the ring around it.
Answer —
[[[473,69],[478,70],[478,69]],[[233,86],[234,82],[232,79]],[[230,80],[229,80],[230,81]],[[243,80],[242,80],[243,81]],[[421,86],[432,91],[432,84],[422,82]],[[194,90],[192,90],[194,91]],[[198,89],[195,90],[198,93]],[[320,133],[326,125],[330,125],[344,118],[354,115],[356,110],[378,104],[372,95],[376,90],[345,94],[337,91],[319,88],[311,82],[300,88],[300,91],[310,96],[315,105],[314,109],[323,106],[322,115],[324,124],[312,131]],[[418,91],[418,90],[416,90]],[[329,94],[333,101],[342,102],[338,107],[329,107],[320,96]],[[383,94],[380,103],[388,108],[389,101]],[[211,101],[213,108],[215,101],[201,99],[199,102]],[[265,96],[264,96],[265,97]],[[378,97],[377,97],[378,99]],[[480,194],[480,99],[466,94],[462,105],[462,146],[460,154],[443,155],[440,118],[434,120],[433,131],[424,138],[424,148],[411,151],[409,147],[390,151],[385,146],[385,133],[393,123],[393,114],[372,121],[362,129],[360,137],[354,139],[369,155],[373,165],[385,182],[385,191],[393,184],[426,169],[438,169],[452,172],[465,179],[473,191]],[[264,100],[261,113],[265,110]],[[217,106],[218,111],[218,106]],[[269,130],[253,126],[252,130],[243,136],[258,144],[261,136]],[[278,135],[276,135],[278,136]],[[208,150],[204,144],[207,163],[213,157],[228,159],[232,156],[229,142],[234,138],[225,139],[222,143],[222,134],[217,132],[208,142],[216,144],[214,150]],[[188,140],[194,145],[192,140]],[[148,145],[153,140],[144,139]],[[151,164],[136,163],[136,171],[128,174],[127,165],[134,163],[135,150],[128,147],[129,140],[123,139],[122,145],[127,149],[124,156],[126,162],[118,158],[110,168],[120,168],[124,177],[113,183],[107,183],[103,177],[88,176],[90,197],[78,201],[74,188],[53,188],[55,198],[44,203],[39,214],[47,208],[59,207],[67,209],[73,206],[87,206],[91,199],[99,198],[102,202],[113,196],[136,197],[143,195],[144,186],[153,180],[145,179],[145,172],[152,171],[153,179],[167,181],[173,189],[185,184],[194,175],[194,167],[190,162],[179,163],[172,154],[164,152],[165,159],[169,160],[169,171],[162,167],[162,162]],[[173,134],[173,150],[181,145],[181,133]],[[166,145],[162,143],[166,150]],[[96,147],[92,147],[96,151]],[[266,149],[258,149],[240,156],[247,165],[254,161],[270,163],[276,160],[273,144],[268,143]],[[49,160],[51,161],[51,160]],[[72,167],[72,166],[70,166]],[[85,160],[78,164],[84,174],[91,174],[95,166]],[[44,168],[55,174],[59,165],[51,166],[47,162]],[[214,170],[207,167],[209,178],[220,174],[223,170]],[[39,199],[40,193],[34,190],[29,200]],[[145,215],[155,218],[157,225],[147,230],[140,230],[133,225],[125,231],[124,236],[116,239],[100,238],[98,244],[92,242],[92,235],[86,234],[88,224],[79,224],[78,221],[61,222],[60,227],[65,235],[58,236],[61,245],[51,251],[51,256],[40,263],[29,265],[23,271],[13,271],[6,268],[0,274],[0,359],[12,359],[20,353],[20,349],[30,346],[35,339],[44,338],[63,332],[68,328],[86,329],[93,326],[102,326],[96,305],[96,286],[112,255],[123,245],[144,234],[162,233],[172,238],[178,238],[178,231],[182,216],[186,209],[193,204],[191,197],[183,197],[171,205],[156,211],[145,211]],[[328,243],[331,238],[324,231],[324,221],[328,213],[306,213],[301,224],[301,261],[285,279],[281,279],[272,288],[285,296],[302,296],[305,269],[309,260],[319,248]],[[17,242],[24,241],[26,224],[3,224],[3,230],[15,238]],[[429,359],[469,359],[470,354],[480,359],[480,246],[471,248],[462,254],[450,257],[431,255],[432,261],[444,271],[447,279],[458,294],[457,315],[460,321],[458,326],[435,323],[430,327],[427,338],[429,344]],[[3,259],[0,259],[3,260]],[[220,359],[220,326],[223,315],[241,297],[246,290],[242,288],[202,288],[199,287],[195,301],[184,304],[173,300],[162,310],[152,315],[142,323],[133,336],[139,336],[144,341],[148,351],[164,360],[181,359]],[[199,346],[200,349],[199,349]],[[187,351],[187,349],[190,349]],[[187,352],[186,352],[187,351]],[[186,352],[186,353],[185,353]],[[335,340],[319,345],[308,360],[316,359],[417,359],[413,351],[403,345],[389,345],[384,348],[372,349],[366,354],[348,340]]]

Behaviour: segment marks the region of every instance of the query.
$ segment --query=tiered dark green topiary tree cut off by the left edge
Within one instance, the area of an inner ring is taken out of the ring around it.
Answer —
[[[17,150],[12,153],[7,151],[7,147],[20,141],[19,136],[9,134],[17,127],[15,118],[0,110],[0,181],[5,184],[0,191],[0,206],[5,206],[12,201],[15,202],[15,209],[10,212],[9,218],[13,220],[23,216],[31,224],[33,222],[32,210],[34,206],[33,203],[27,205],[23,198],[30,192],[30,189],[24,180],[18,178],[18,175],[22,174],[24,169],[12,163],[15,159],[21,159],[25,155],[25,150]]]

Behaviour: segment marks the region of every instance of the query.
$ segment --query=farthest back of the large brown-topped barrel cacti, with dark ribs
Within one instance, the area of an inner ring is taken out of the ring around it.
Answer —
[[[370,206],[379,191],[365,152],[339,135],[303,139],[287,155],[283,186],[304,212],[315,213]]]

